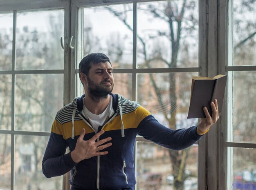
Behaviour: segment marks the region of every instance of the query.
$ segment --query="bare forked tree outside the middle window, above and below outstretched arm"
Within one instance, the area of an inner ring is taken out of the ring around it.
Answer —
[[[139,7],[138,10],[144,10],[148,13],[148,15],[153,16],[154,19],[162,20],[168,23],[168,31],[157,31],[157,34],[151,35],[150,38],[158,38],[159,36],[164,36],[166,40],[170,41],[171,56],[169,59],[164,58],[165,50],[156,48],[155,51],[151,51],[147,48],[148,41],[145,37],[137,35],[138,41],[141,44],[141,47],[138,49],[138,57],[143,57],[144,63],[142,67],[146,68],[155,68],[157,65],[152,65],[152,62],[163,63],[167,68],[175,68],[182,65],[182,62],[179,60],[179,53],[182,38],[187,35],[186,31],[195,30],[195,25],[198,20],[196,19],[195,14],[198,12],[194,12],[196,8],[194,1],[183,0],[180,4],[179,2],[167,1],[167,2],[159,2],[155,4],[148,4],[144,7]],[[112,9],[111,7],[106,7],[110,12],[112,12],[119,20],[121,20],[124,25],[127,26],[128,29],[132,30],[132,27],[128,25],[126,21],[125,13],[121,11],[117,11]],[[150,16],[148,16],[150,17]],[[191,22],[189,25],[185,25],[186,22]],[[183,34],[185,33],[185,34]],[[182,36],[183,34],[183,36]],[[138,45],[139,46],[139,45]],[[159,46],[158,46],[159,47]],[[191,65],[192,67],[193,65]],[[176,129],[177,121],[176,114],[177,108],[179,107],[177,103],[177,74],[169,73],[169,89],[167,92],[167,98],[165,93],[161,88],[159,88],[159,83],[153,74],[150,74],[150,82],[153,85],[154,92],[157,97],[159,110],[164,114],[166,121],[168,121],[168,126],[171,129]],[[166,106],[167,104],[167,106]],[[184,180],[186,179],[185,168],[186,168],[186,160],[188,158],[189,148],[182,151],[173,151],[169,150],[169,155],[172,163],[172,171],[174,176],[173,188],[174,190],[183,190],[184,188]]]

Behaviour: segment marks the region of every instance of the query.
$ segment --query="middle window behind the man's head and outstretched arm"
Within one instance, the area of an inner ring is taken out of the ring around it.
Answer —
[[[199,72],[198,1],[135,2],[79,11],[79,61],[92,52],[108,55],[113,93],[138,101],[171,129],[197,124],[186,117],[191,77]],[[137,190],[197,189],[197,145],[173,151],[138,137],[135,150]]]

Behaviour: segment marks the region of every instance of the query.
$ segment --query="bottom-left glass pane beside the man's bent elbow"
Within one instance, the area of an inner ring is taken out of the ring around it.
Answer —
[[[14,190],[62,190],[62,177],[47,179],[42,172],[42,159],[49,137],[15,138]]]

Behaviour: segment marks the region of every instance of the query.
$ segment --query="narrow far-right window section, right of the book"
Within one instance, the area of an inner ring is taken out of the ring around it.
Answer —
[[[230,1],[227,188],[256,188],[256,2]]]

